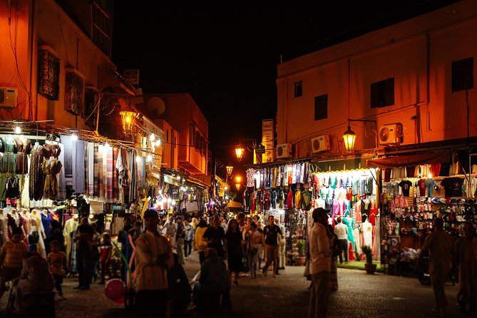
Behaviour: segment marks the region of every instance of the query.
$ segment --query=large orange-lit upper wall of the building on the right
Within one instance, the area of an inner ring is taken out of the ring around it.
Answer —
[[[304,158],[311,138],[330,135],[332,151],[340,153],[348,118],[376,119],[378,128],[401,123],[404,144],[464,138],[466,93],[451,92],[451,63],[470,57],[475,77],[477,6],[467,0],[279,64],[277,143],[293,143],[295,158]],[[386,78],[394,78],[394,106],[371,108],[370,85]],[[297,81],[303,95],[295,98]],[[476,88],[474,81],[468,91],[471,136],[477,135]],[[328,117],[314,120],[314,97],[323,94]],[[352,123],[355,149],[374,148],[375,129]]]

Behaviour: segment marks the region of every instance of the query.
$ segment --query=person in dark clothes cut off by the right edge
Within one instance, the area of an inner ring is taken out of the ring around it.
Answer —
[[[472,222],[462,225],[462,237],[454,244],[453,269],[458,268],[457,302],[461,312],[477,314],[477,237]]]

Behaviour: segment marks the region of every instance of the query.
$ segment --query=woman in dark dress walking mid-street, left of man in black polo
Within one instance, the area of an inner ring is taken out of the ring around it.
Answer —
[[[232,273],[233,283],[238,285],[239,273],[242,272],[242,257],[244,255],[242,248],[242,232],[238,226],[237,220],[230,219],[225,233],[225,239],[227,240],[227,260],[229,270]]]

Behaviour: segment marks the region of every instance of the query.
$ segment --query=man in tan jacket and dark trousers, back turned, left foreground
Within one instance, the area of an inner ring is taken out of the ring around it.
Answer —
[[[168,270],[174,265],[168,239],[158,232],[158,212],[144,212],[145,233],[136,240],[136,299],[138,318],[165,317]]]

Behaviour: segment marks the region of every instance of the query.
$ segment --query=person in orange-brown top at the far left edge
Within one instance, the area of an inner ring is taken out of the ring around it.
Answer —
[[[5,283],[19,277],[23,266],[24,256],[27,248],[21,240],[23,230],[21,227],[14,227],[11,230],[11,239],[1,246],[0,252],[0,299],[5,292]]]

